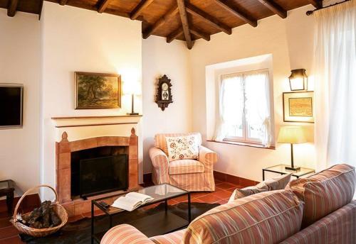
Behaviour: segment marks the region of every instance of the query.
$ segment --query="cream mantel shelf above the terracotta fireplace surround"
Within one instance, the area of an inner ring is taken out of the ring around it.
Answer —
[[[52,117],[56,128],[112,126],[139,123],[142,115]]]

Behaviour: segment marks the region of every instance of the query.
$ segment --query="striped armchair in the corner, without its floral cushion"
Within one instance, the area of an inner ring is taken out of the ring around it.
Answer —
[[[197,160],[183,159],[169,162],[166,137],[193,135],[199,148]],[[217,154],[201,145],[200,133],[155,135],[155,148],[150,149],[155,184],[169,183],[190,192],[215,190],[213,166]]]

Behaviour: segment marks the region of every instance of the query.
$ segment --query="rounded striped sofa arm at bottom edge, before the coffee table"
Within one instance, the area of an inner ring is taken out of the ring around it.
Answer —
[[[137,228],[123,224],[110,228],[101,239],[100,244],[154,244],[154,242]]]

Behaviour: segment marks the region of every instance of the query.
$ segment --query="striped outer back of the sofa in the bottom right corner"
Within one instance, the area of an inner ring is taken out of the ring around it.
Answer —
[[[356,200],[321,218],[281,244],[356,243]]]

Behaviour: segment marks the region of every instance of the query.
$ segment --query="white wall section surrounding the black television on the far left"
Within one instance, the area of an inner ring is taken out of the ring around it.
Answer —
[[[23,128],[0,130],[0,179],[23,190],[39,182],[40,52],[38,16],[0,9],[0,83],[24,87]]]

